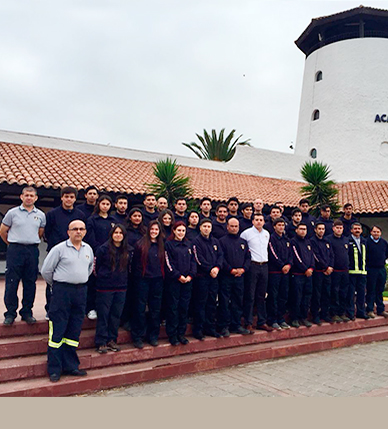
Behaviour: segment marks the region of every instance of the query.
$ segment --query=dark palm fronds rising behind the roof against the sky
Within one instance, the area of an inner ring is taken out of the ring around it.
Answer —
[[[239,142],[239,139],[242,137],[242,134],[240,134],[232,141],[236,130],[232,130],[224,139],[224,132],[225,128],[220,131],[217,137],[216,130],[212,130],[211,136],[206,130],[203,130],[204,137],[196,134],[201,145],[195,142],[182,144],[192,150],[198,158],[228,162],[233,158],[237,146],[250,146],[250,139]]]

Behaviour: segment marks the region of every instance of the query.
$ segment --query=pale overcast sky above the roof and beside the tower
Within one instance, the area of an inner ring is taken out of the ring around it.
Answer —
[[[0,129],[191,156],[181,142],[225,128],[289,152],[305,59],[294,41],[359,5],[0,0]]]

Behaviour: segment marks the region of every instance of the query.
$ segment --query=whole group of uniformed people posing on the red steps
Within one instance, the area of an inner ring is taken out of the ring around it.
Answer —
[[[86,375],[76,353],[85,315],[97,319],[102,354],[120,351],[120,324],[141,349],[145,340],[158,346],[164,322],[171,345],[187,344],[190,318],[194,338],[204,340],[253,334],[255,315],[256,329],[266,332],[388,317],[388,243],[377,225],[362,237],[350,203],[333,220],[329,206],[315,218],[302,199],[289,220],[282,202],[265,216],[261,199],[240,204],[232,197],[213,215],[209,198],[199,211],[188,211],[185,198],[169,208],[166,198],[147,194],[143,206],[129,210],[125,195],[113,202],[90,186],[85,197],[76,206],[77,190],[65,187],[61,205],[45,215],[35,207],[36,189],[25,187],[22,204],[7,212],[0,228],[8,244],[7,326],[17,316],[20,280],[19,314],[36,322],[38,245],[42,237],[47,242],[41,274],[53,382],[61,374]]]

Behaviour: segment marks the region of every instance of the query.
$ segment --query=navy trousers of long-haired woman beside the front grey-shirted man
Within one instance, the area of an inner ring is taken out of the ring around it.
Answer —
[[[97,291],[97,327],[95,344],[103,346],[109,341],[117,341],[120,317],[123,312],[126,291]]]

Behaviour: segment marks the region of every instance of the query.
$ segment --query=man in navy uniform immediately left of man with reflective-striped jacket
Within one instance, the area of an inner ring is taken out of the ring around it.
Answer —
[[[346,297],[349,289],[349,239],[343,236],[342,221],[335,220],[333,234],[328,240],[334,253],[333,273],[331,274],[330,315],[332,323],[349,322],[346,316]]]

